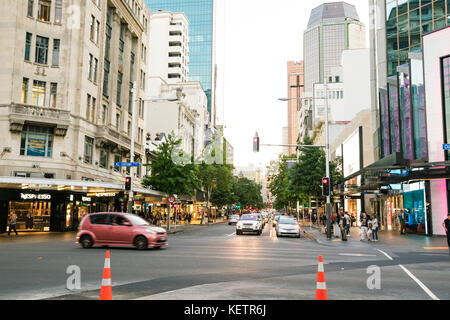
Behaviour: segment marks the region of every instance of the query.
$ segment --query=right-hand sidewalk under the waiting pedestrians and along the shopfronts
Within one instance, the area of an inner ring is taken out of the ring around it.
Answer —
[[[402,248],[414,251],[433,251],[433,252],[448,252],[447,238],[444,236],[427,237],[416,234],[401,235],[398,231],[378,231],[378,242],[373,241],[360,241],[361,236],[359,234],[359,228],[351,228],[350,236],[347,237],[347,242],[342,241],[341,238],[332,237],[331,240],[327,239],[327,235],[322,233],[321,227],[314,225],[312,228],[309,226],[302,226],[303,231],[308,233],[319,244],[342,246],[346,243],[351,245],[366,244],[377,245],[387,248]]]

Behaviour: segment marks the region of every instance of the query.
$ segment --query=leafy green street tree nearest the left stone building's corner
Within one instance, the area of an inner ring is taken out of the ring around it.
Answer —
[[[173,134],[168,142],[161,144],[156,151],[156,158],[151,161],[151,175],[144,178],[143,184],[168,195],[195,195],[199,188],[197,168],[193,164],[176,164],[172,154],[181,144]]]

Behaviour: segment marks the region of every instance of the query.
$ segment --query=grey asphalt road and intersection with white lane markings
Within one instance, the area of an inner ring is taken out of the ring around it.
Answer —
[[[108,249],[74,241],[63,234],[0,242],[0,299],[98,299]],[[448,252],[277,238],[270,226],[237,236],[219,224],[171,235],[164,249],[109,250],[113,299],[313,300],[319,255],[330,300],[450,299]],[[66,288],[71,265],[80,267],[81,290]],[[368,289],[371,266],[380,268],[380,289]]]

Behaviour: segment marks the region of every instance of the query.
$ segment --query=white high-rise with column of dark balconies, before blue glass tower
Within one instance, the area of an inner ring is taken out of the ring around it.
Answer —
[[[184,13],[167,11],[150,15],[148,74],[167,83],[187,81],[189,22]]]

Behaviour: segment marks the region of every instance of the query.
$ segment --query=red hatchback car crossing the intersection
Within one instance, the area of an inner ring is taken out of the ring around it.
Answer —
[[[81,220],[77,242],[93,245],[134,246],[139,250],[167,246],[167,232],[128,213],[91,213]]]

